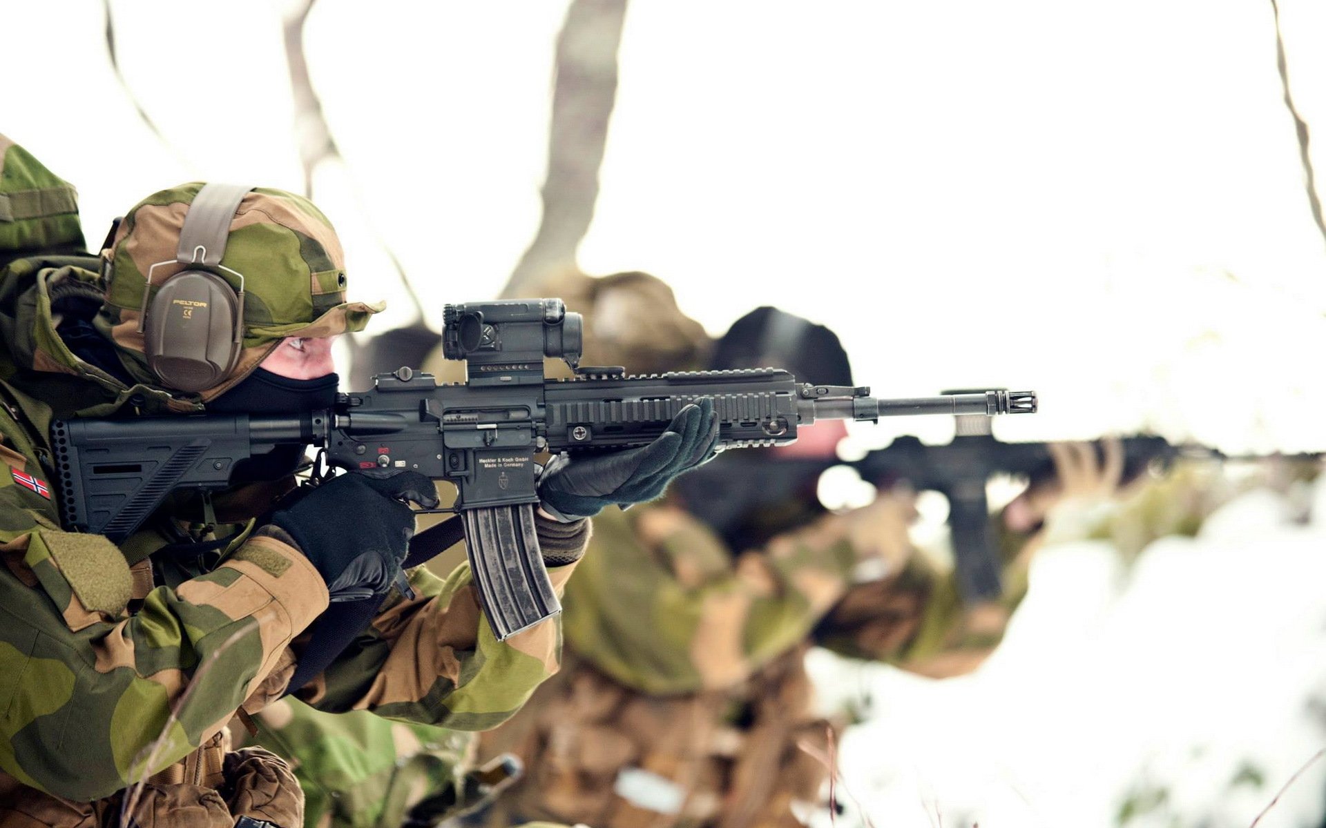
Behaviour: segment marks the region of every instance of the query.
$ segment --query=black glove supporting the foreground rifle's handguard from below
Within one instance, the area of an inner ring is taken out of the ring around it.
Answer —
[[[613,503],[652,501],[674,477],[713,457],[717,441],[719,416],[713,400],[703,397],[682,408],[648,445],[575,460],[558,454],[538,478],[540,505],[557,519],[570,522]]]

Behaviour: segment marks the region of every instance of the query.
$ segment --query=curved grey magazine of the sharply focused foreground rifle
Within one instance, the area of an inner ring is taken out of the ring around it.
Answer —
[[[499,641],[562,611],[534,534],[534,505],[461,509],[479,603]]]

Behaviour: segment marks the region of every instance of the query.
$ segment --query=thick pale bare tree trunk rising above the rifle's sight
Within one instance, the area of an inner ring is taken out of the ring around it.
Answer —
[[[557,79],[548,140],[544,217],[503,289],[505,298],[575,270],[575,252],[594,217],[598,171],[617,99],[617,50],[626,0],[573,0],[557,37]]]

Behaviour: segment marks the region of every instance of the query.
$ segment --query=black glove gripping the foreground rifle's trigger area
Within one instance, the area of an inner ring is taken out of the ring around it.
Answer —
[[[284,530],[317,567],[332,600],[385,595],[400,574],[415,517],[403,501],[438,505],[438,489],[418,472],[385,480],[341,474],[297,492],[267,523]]]

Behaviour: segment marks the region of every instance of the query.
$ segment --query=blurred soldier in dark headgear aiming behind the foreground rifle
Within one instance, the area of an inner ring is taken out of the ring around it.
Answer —
[[[733,325],[711,364],[851,384],[831,331],[769,307]],[[595,518],[597,551],[564,601],[561,673],[480,737],[480,760],[513,752],[526,767],[489,824],[800,824],[792,804],[819,800],[830,726],[810,710],[802,656],[865,572],[873,595],[854,608],[873,624],[847,636],[854,649],[927,674],[979,664],[1006,613],[964,608],[952,579],[912,554],[910,494],[880,490],[843,514],[815,498],[842,436],[825,423],[785,449],[729,452],[662,502]]]

